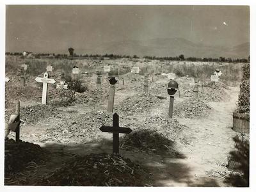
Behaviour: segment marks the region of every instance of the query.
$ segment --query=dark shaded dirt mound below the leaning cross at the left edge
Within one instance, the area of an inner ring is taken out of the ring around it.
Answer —
[[[39,145],[14,140],[4,142],[4,175],[19,172],[28,166],[28,163],[42,163],[47,158],[47,151]]]

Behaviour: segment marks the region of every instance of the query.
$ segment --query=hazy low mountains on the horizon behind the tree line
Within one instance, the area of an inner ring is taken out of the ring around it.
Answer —
[[[235,47],[209,46],[195,44],[184,38],[154,38],[151,40],[125,40],[122,42],[108,42],[91,49],[74,47],[75,52],[82,54],[127,54],[137,56],[179,56],[198,58],[247,58],[250,54],[250,44],[244,43]]]

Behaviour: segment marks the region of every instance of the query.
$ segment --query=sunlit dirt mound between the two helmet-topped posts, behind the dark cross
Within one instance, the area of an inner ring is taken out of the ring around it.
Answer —
[[[157,103],[161,102],[159,97],[151,94],[136,94],[128,97],[123,102],[116,106],[115,111],[122,111],[132,115],[132,113],[148,113],[148,109],[154,107]]]

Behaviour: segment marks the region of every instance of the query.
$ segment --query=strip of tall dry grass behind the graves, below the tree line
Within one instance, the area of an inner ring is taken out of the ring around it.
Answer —
[[[38,76],[45,72],[47,65],[52,65],[56,73],[64,72],[66,76],[71,76],[72,68],[79,67],[79,73],[95,74],[96,70],[103,71],[105,65],[112,68],[118,68],[119,74],[125,74],[131,71],[131,68],[140,67],[140,74],[146,71],[149,74],[161,74],[174,72],[177,76],[200,77],[200,81],[208,82],[211,75],[220,68],[222,76],[220,81],[228,86],[238,86],[241,82],[242,67],[244,63],[214,63],[214,62],[192,62],[192,61],[159,61],[145,59],[122,58],[116,60],[93,60],[91,58],[84,60],[69,60],[56,58],[22,58],[22,56],[6,56],[5,72],[6,76],[19,76],[19,67],[22,64],[29,65],[29,76]]]

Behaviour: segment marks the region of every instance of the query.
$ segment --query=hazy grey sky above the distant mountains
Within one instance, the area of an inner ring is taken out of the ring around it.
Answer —
[[[6,6],[6,51],[172,37],[234,46],[249,42],[249,31],[249,6]]]

